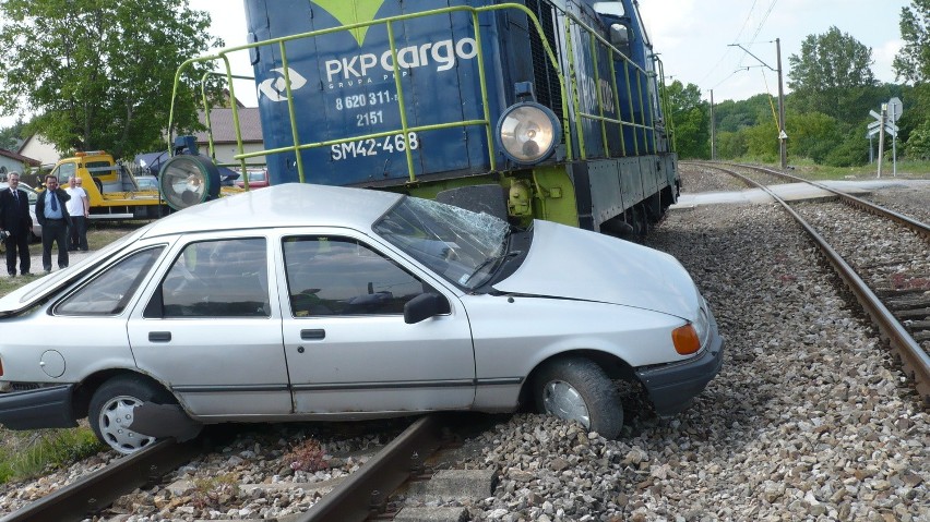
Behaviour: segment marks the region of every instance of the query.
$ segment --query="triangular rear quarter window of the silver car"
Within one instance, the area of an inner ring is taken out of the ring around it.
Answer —
[[[69,295],[55,307],[59,315],[117,315],[122,313],[132,294],[162,255],[163,246],[136,252]]]

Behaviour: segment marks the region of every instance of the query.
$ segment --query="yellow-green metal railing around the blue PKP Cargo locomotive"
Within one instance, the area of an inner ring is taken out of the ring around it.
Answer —
[[[272,39],[269,39],[269,40],[263,40],[263,41],[258,41],[258,43],[248,44],[248,45],[243,45],[243,46],[222,49],[214,54],[207,54],[207,56],[203,56],[203,57],[189,59],[189,60],[184,61],[183,63],[181,63],[181,65],[178,68],[177,73],[175,74],[172,105],[171,105],[171,110],[170,110],[169,120],[168,120],[169,151],[170,151],[170,147],[171,147],[172,132],[174,132],[174,117],[175,117],[174,100],[177,99],[179,85],[181,83],[181,77],[182,77],[184,71],[195,63],[205,63],[205,62],[213,62],[213,61],[216,61],[216,60],[222,60],[223,61],[223,69],[224,69],[225,72],[206,73],[201,78],[201,84],[202,84],[201,94],[202,94],[203,104],[204,104],[204,112],[205,112],[206,118],[207,118],[207,121],[206,121],[207,126],[210,126],[210,109],[211,109],[211,107],[208,106],[206,89],[205,89],[206,80],[210,75],[225,76],[226,83],[227,83],[227,86],[228,86],[228,90],[229,90],[229,96],[233,99],[233,104],[231,104],[233,121],[234,121],[234,125],[235,125],[236,144],[237,144],[237,153],[238,153],[238,154],[234,155],[234,158],[238,162],[238,166],[242,169],[243,173],[246,172],[246,168],[249,165],[249,163],[247,163],[248,159],[265,157],[265,156],[273,155],[273,154],[294,153],[295,157],[296,157],[296,162],[297,162],[298,179],[301,182],[305,182],[306,181],[306,174],[305,174],[306,169],[305,169],[303,160],[302,160],[302,157],[301,157],[302,155],[299,154],[301,150],[306,150],[306,149],[310,149],[310,148],[327,147],[327,146],[332,146],[332,145],[338,145],[338,144],[351,143],[351,142],[359,142],[359,141],[365,141],[365,139],[377,139],[377,138],[386,137],[386,136],[402,135],[403,139],[404,139],[404,145],[405,145],[405,155],[406,155],[406,162],[407,162],[407,171],[408,171],[409,182],[415,183],[416,182],[416,174],[415,174],[415,169],[414,169],[413,151],[410,149],[410,133],[429,132],[429,131],[437,131],[437,130],[451,129],[451,128],[465,128],[465,126],[472,126],[472,125],[481,125],[481,126],[485,128],[487,141],[488,141],[488,160],[489,160],[489,165],[490,165],[490,170],[497,171],[497,159],[496,159],[497,154],[496,154],[496,150],[494,150],[494,136],[493,136],[493,132],[494,132],[493,125],[494,125],[496,122],[492,122],[491,119],[490,119],[491,117],[490,117],[490,109],[489,109],[489,104],[488,104],[488,90],[487,90],[487,85],[488,85],[487,72],[486,72],[486,64],[485,64],[485,60],[484,60],[481,32],[479,29],[480,24],[479,24],[479,21],[478,21],[478,16],[484,12],[501,11],[501,10],[516,10],[516,11],[521,11],[524,14],[526,14],[527,19],[529,20],[529,22],[532,22],[533,27],[535,28],[536,33],[538,34],[539,40],[540,40],[540,43],[544,47],[544,50],[546,52],[546,57],[548,58],[550,64],[552,65],[553,71],[556,72],[556,74],[559,78],[559,86],[560,86],[559,95],[560,95],[560,102],[561,102],[561,108],[562,108],[562,120],[563,120],[562,121],[562,130],[563,130],[563,133],[564,133],[565,159],[568,161],[571,161],[573,159],[573,156],[574,156],[574,151],[573,151],[574,147],[573,147],[572,129],[569,124],[569,104],[568,104],[568,99],[567,99],[567,96],[565,96],[567,83],[565,83],[565,76],[562,72],[563,68],[561,66],[560,61],[557,58],[553,49],[549,45],[549,43],[548,43],[548,40],[545,36],[545,32],[542,29],[542,26],[539,23],[539,20],[525,5],[517,4],[517,3],[501,3],[501,4],[497,4],[497,5],[487,5],[487,7],[481,7],[481,8],[472,8],[472,7],[467,7],[467,5],[461,5],[461,7],[434,9],[434,10],[429,10],[429,11],[422,11],[422,12],[419,12],[419,13],[390,16],[390,17],[385,17],[385,19],[373,20],[373,21],[370,21],[370,22],[359,22],[359,23],[344,25],[344,26],[339,26],[339,27],[331,27],[331,28],[325,28],[325,29],[312,31],[312,32],[308,32],[308,33],[301,33],[301,34],[297,34],[297,35],[272,38]],[[478,64],[478,77],[479,77],[479,85],[480,85],[480,90],[481,90],[482,118],[478,119],[478,120],[453,121],[453,122],[438,123],[438,124],[430,124],[430,125],[414,125],[414,126],[412,126],[409,124],[409,122],[407,121],[407,106],[406,106],[406,100],[405,100],[405,97],[404,97],[404,89],[403,89],[403,83],[402,83],[402,68],[398,65],[398,60],[397,60],[397,45],[396,45],[396,41],[395,41],[394,25],[396,23],[404,22],[404,21],[412,20],[412,19],[418,19],[418,17],[424,17],[424,16],[434,16],[434,15],[442,15],[442,14],[451,14],[451,13],[455,13],[455,12],[467,12],[467,13],[470,13],[470,16],[472,16],[473,28],[474,28],[474,34],[475,34],[475,41],[476,41],[476,58],[477,58],[477,64]],[[579,154],[580,154],[581,158],[582,159],[587,158],[585,139],[583,138],[584,132],[583,132],[583,126],[582,126],[582,123],[581,123],[582,119],[592,119],[592,120],[596,120],[596,121],[600,122],[600,126],[601,126],[600,138],[604,143],[605,155],[607,155],[608,157],[610,157],[610,149],[609,149],[609,146],[608,146],[608,136],[607,136],[607,124],[608,123],[618,124],[618,125],[620,125],[621,130],[622,130],[622,128],[628,126],[628,128],[633,128],[636,131],[641,131],[642,139],[643,139],[644,144],[647,139],[648,131],[653,131],[653,150],[656,150],[657,148],[656,148],[656,138],[655,138],[655,131],[656,131],[655,126],[647,126],[645,124],[646,123],[646,121],[645,121],[646,114],[644,112],[645,111],[645,101],[644,101],[643,98],[648,97],[648,93],[647,93],[648,89],[642,88],[643,75],[648,77],[649,75],[654,75],[654,73],[647,72],[644,69],[636,65],[634,62],[632,62],[632,60],[630,60],[629,57],[623,54],[619,49],[613,47],[603,36],[598,35],[592,27],[584,24],[576,16],[572,15],[571,13],[564,12],[564,11],[561,11],[561,13],[565,19],[565,31],[567,31],[567,34],[569,35],[569,38],[567,38],[567,41],[568,41],[568,49],[567,49],[568,57],[567,57],[567,59],[568,59],[568,69],[571,72],[571,84],[570,84],[571,90],[570,92],[572,94],[572,109],[573,109],[573,112],[576,114],[575,133],[576,133],[577,136],[582,137],[577,141],[579,142]],[[290,82],[290,73],[289,73],[289,68],[288,68],[288,53],[287,53],[286,44],[289,43],[289,41],[293,41],[293,40],[298,40],[298,39],[303,39],[303,38],[315,38],[315,37],[319,37],[319,36],[324,36],[324,35],[337,33],[337,32],[351,32],[351,31],[357,29],[357,28],[369,27],[369,26],[372,26],[372,25],[382,25],[382,24],[385,25],[386,28],[388,28],[388,39],[389,39],[389,44],[390,44],[390,48],[391,48],[390,50],[391,50],[391,56],[392,56],[392,61],[393,61],[392,65],[393,65],[393,72],[394,72],[394,86],[397,89],[396,104],[398,106],[400,116],[401,116],[401,129],[395,129],[395,130],[392,130],[392,131],[385,131],[385,132],[379,132],[379,133],[342,137],[342,138],[336,138],[336,139],[327,139],[327,141],[323,141],[323,142],[306,143],[306,144],[301,143],[300,136],[299,136],[299,133],[298,133],[298,125],[297,125],[298,114],[295,110],[295,101],[294,101],[294,96],[293,96],[293,92],[291,92],[291,82]],[[593,65],[594,65],[594,73],[595,73],[595,86],[596,86],[595,92],[597,93],[597,102],[598,102],[598,112],[599,112],[598,114],[589,114],[589,113],[582,112],[582,110],[581,110],[580,94],[579,94],[580,88],[579,88],[579,84],[577,84],[577,77],[576,77],[576,74],[575,74],[575,71],[576,71],[575,61],[576,61],[576,59],[575,59],[575,56],[574,56],[574,52],[573,52],[573,49],[572,49],[572,38],[571,38],[573,31],[575,31],[575,32],[584,31],[591,36],[592,56],[594,57],[593,58],[594,59]],[[233,80],[234,78],[245,80],[245,78],[249,78],[249,77],[234,75],[233,72],[231,72],[231,69],[230,69],[228,57],[229,57],[229,54],[231,54],[234,52],[248,51],[248,50],[254,49],[257,47],[264,47],[264,46],[272,46],[272,45],[277,45],[279,52],[281,52],[282,71],[283,71],[284,84],[285,84],[285,93],[287,95],[286,96],[287,112],[288,112],[288,118],[290,120],[291,138],[293,138],[294,145],[247,153],[247,151],[245,151],[245,148],[243,148],[241,128],[240,128],[240,124],[239,124],[238,107],[237,107],[237,104],[235,101],[237,98],[236,98],[236,94],[235,94],[235,87],[234,87]],[[596,52],[596,49],[595,49],[596,45],[600,45],[601,47],[606,48],[608,56],[610,58],[610,71],[611,71],[611,76],[612,76],[611,89],[612,89],[612,96],[613,96],[613,100],[615,100],[615,109],[617,111],[618,118],[608,118],[604,114],[604,105],[603,105],[601,94],[600,94],[600,90],[599,90],[600,76],[599,76],[599,69],[597,66],[597,52]],[[633,82],[635,82],[635,84],[637,85],[636,92],[639,93],[640,112],[643,114],[642,121],[640,121],[640,122],[635,121],[635,111],[633,110],[634,106],[633,106],[632,97],[629,98],[629,111],[630,111],[631,118],[634,121],[628,122],[628,121],[622,120],[622,118],[621,118],[620,96],[619,96],[619,90],[618,90],[617,73],[616,73],[616,65],[615,65],[616,62],[618,61],[617,60],[618,57],[623,62],[625,87],[627,87],[628,93],[633,93],[633,90],[631,88],[632,87],[631,68],[633,70],[633,74],[635,75],[635,78],[633,80]],[[644,93],[643,90],[646,90],[646,92]],[[649,99],[649,102],[651,101],[652,101],[652,99]],[[653,109],[652,105],[649,105],[649,108]],[[655,112],[653,112],[653,113],[655,113]],[[639,155],[640,154],[640,132],[634,132],[634,136],[635,136],[635,139],[634,139],[633,154]],[[214,144],[213,144],[212,130],[207,132],[207,137],[208,137],[208,141],[210,141],[211,156],[213,156]],[[622,139],[622,132],[621,132],[620,142],[621,142],[621,144],[623,144],[623,142],[624,142]],[[622,156],[628,155],[625,144],[622,145],[621,154],[622,154]],[[230,163],[224,163],[224,165],[230,165]],[[231,163],[231,165],[236,165],[236,163]],[[245,174],[245,175],[247,175],[247,174]]]

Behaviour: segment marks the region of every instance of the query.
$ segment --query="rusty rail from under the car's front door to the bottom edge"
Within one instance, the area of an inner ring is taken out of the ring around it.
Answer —
[[[295,522],[363,521],[416,473],[443,440],[437,415],[417,420]]]

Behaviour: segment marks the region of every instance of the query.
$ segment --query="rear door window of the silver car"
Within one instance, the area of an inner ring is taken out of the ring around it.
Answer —
[[[186,246],[145,317],[271,317],[264,238]]]

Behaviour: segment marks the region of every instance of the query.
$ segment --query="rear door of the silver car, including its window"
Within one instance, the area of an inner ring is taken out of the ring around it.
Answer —
[[[218,235],[176,245],[129,320],[136,364],[204,417],[291,412],[269,241]]]

